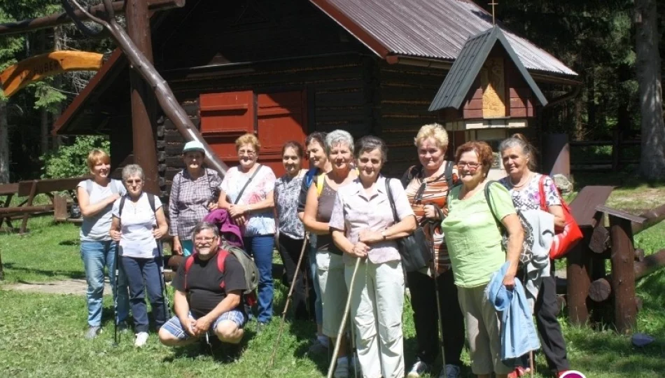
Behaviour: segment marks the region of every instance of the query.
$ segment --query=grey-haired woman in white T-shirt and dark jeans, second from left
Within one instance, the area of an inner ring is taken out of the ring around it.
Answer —
[[[144,193],[144,172],[139,165],[130,164],[123,169],[123,182],[127,195],[113,204],[111,238],[120,241],[120,262],[130,286],[130,304],[137,335],[134,345],[144,346],[148,342],[146,288],[157,328],[167,320],[158,242],[166,235],[169,226],[160,199]]]

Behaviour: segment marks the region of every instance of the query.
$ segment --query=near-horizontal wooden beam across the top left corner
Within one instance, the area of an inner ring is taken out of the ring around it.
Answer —
[[[156,12],[158,10],[165,10],[170,8],[182,8],[185,6],[185,0],[147,0],[148,9],[151,12]],[[113,10],[116,11],[116,14],[125,12],[125,1],[113,1]],[[74,11],[78,18],[81,20],[87,20],[83,12],[80,10]],[[106,15],[104,12],[104,4],[99,4],[96,6],[90,7],[90,13],[96,17],[103,18]],[[0,24],[0,36],[7,36],[10,34],[21,34],[27,31],[34,31],[38,29],[46,29],[49,27],[57,27],[59,25],[65,25],[71,23],[71,18],[69,18],[66,13],[54,13],[52,15],[40,17],[40,18],[31,18],[28,20],[21,20],[17,22],[7,22],[6,24]]]

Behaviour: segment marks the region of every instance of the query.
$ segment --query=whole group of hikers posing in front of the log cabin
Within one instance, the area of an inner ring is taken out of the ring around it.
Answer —
[[[86,337],[101,330],[104,266],[113,271],[118,245],[118,282],[109,274],[117,288],[116,322],[127,328],[131,307],[137,346],[148,338],[144,286],[163,344],[184,344],[209,332],[223,342],[239,342],[252,316],[243,295],[243,267],[221,249],[218,226],[202,222],[209,211],[222,210],[239,228],[241,244],[258,267],[258,330],[272,318],[272,251],[277,246],[286,279],[294,284],[295,318],[314,318],[317,324],[310,351],[327,351],[336,342],[340,346],[330,362],[335,377],[349,377],[354,369],[363,377],[421,377],[432,372],[441,350],[444,365],[438,377],[458,377],[465,339],[471,370],[479,377],[528,372],[524,359],[517,366],[501,360],[501,317],[486,288],[498,271],[507,290],[525,279],[519,264],[524,229],[518,211],[541,209],[545,195],[547,211],[561,227],[559,193],[549,177],[541,179],[533,171],[533,147],[519,135],[500,144],[507,176],[488,190],[493,164],[488,144],[463,144],[451,162],[446,160],[447,132],[440,125],[424,125],[414,141],[419,162],[401,180],[380,173],[387,161],[384,141],[366,136],[354,143],[344,130],[314,132],[305,146],[286,143],[286,174],[279,179],[258,162],[260,143],[253,134],[237,139],[239,165],[223,179],[203,167],[203,146],[188,142],[185,168],[174,177],[169,198],[170,228],[161,202],[141,189],[140,167],[125,167],[122,182],[111,180],[109,156],[93,151],[88,158],[92,184],[83,181],[78,187],[84,218],[81,255],[89,286]],[[305,155],[309,170],[303,169]],[[422,269],[405,272],[397,241],[425,222],[436,225],[426,235],[432,259]],[[174,237],[174,253],[183,255],[173,282],[175,315],[170,319],[155,278],[162,264],[158,240],[167,229]],[[304,251],[309,263],[297,271]],[[533,312],[549,368],[562,374],[569,366],[552,276],[542,277]],[[407,286],[417,341],[409,370],[402,334]],[[342,324],[347,298],[351,321]]]

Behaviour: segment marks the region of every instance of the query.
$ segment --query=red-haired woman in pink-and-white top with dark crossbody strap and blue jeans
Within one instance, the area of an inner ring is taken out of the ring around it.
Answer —
[[[258,267],[258,330],[272,319],[272,249],[274,247],[274,186],[272,169],[258,162],[261,148],[254,134],[235,141],[239,165],[226,172],[218,207],[225,209],[243,232],[245,251]]]

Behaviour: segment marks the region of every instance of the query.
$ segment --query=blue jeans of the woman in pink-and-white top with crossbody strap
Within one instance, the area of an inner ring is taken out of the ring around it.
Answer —
[[[254,258],[258,267],[258,321],[268,323],[272,319],[272,297],[274,285],[272,283],[272,248],[274,248],[274,235],[257,235],[242,238],[245,251]]]

